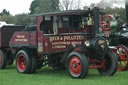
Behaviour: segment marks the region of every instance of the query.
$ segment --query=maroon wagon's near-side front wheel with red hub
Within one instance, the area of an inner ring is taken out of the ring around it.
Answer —
[[[88,74],[88,60],[82,53],[70,53],[66,65],[69,75],[73,78],[84,78]]]

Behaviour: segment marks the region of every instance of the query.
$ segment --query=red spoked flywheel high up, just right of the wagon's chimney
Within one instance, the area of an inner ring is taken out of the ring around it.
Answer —
[[[111,22],[113,22],[114,20],[115,18],[112,15],[104,15],[100,19],[100,27],[103,29],[103,31],[110,31]]]

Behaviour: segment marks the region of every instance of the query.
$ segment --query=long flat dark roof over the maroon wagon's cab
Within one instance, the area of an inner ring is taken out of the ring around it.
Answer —
[[[81,15],[81,14],[88,14],[88,13],[89,13],[89,11],[87,11],[87,10],[73,10],[73,11],[41,13],[41,14],[35,14],[32,16]]]

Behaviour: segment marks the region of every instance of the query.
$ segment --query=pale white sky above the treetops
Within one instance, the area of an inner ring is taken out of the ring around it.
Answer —
[[[0,0],[0,12],[7,9],[12,15],[29,13],[30,4],[33,0]],[[84,4],[98,3],[101,0],[82,0]]]

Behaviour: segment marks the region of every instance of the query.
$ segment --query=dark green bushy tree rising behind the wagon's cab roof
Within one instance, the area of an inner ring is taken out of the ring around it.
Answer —
[[[59,0],[34,0],[30,6],[30,14],[53,12],[59,10]]]

